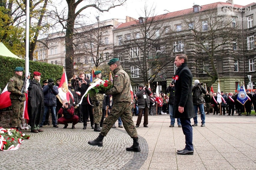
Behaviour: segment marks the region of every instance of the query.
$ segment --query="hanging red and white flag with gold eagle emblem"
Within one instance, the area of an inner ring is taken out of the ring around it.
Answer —
[[[59,99],[59,101],[62,102],[64,99],[69,101],[69,95],[74,101],[73,94],[68,87],[68,79],[65,71],[63,72],[62,77],[60,79],[58,91],[59,91],[59,94],[57,94],[56,97]]]

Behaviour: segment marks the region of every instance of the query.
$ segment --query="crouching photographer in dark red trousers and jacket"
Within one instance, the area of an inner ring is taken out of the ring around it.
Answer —
[[[69,104],[66,99],[64,99],[62,102],[63,104],[62,107],[59,109],[58,114],[63,114],[63,117],[60,117],[58,119],[58,123],[63,124],[63,129],[66,129],[69,125],[68,123],[72,122],[71,129],[75,129],[75,124],[78,123],[78,116],[74,115],[74,106],[72,104]]]

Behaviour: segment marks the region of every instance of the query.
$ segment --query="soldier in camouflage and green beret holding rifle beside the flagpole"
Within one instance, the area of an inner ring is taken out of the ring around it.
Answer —
[[[16,67],[14,69],[15,74],[10,78],[7,89],[8,92],[11,92],[11,105],[13,116],[10,122],[10,127],[20,130],[20,124],[22,122],[22,115],[24,109],[24,101],[26,97],[23,92],[20,92],[23,86],[24,81],[22,80],[23,67]],[[21,102],[18,100],[21,97]]]

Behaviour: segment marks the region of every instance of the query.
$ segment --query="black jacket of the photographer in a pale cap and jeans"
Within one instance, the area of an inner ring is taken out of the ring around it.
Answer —
[[[192,87],[192,93],[193,93],[193,104],[194,105],[204,103],[203,94],[206,94],[206,90],[203,88],[203,86],[194,85]]]

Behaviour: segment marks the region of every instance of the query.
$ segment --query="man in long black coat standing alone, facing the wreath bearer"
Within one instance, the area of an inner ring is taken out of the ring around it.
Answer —
[[[190,119],[195,117],[192,100],[192,73],[187,67],[187,55],[177,54],[175,65],[178,67],[174,76],[175,80],[175,100],[173,104],[173,117],[180,118],[182,131],[185,135],[186,146],[182,150],[177,150],[177,154],[193,155],[193,129]]]

